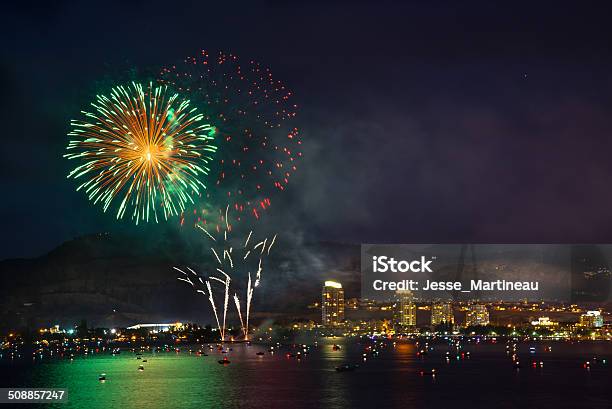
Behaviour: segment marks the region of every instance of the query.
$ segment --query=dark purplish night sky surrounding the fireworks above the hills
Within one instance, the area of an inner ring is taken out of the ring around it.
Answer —
[[[97,81],[203,48],[269,65],[301,105],[305,160],[274,198],[278,226],[352,243],[612,242],[609,10],[250,3],[3,6],[0,259],[134,228],[66,180],[69,120]]]

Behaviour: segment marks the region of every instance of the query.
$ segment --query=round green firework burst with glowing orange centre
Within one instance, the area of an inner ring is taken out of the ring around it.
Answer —
[[[119,203],[117,219],[127,213],[140,221],[181,214],[206,185],[216,151],[215,128],[202,113],[165,85],[132,83],[98,95],[93,112],[71,121],[72,139],[64,157],[80,164],[68,175],[106,212]]]

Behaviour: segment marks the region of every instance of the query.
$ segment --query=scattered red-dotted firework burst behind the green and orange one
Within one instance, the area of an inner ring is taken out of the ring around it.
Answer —
[[[238,220],[245,213],[259,218],[302,156],[293,93],[269,68],[223,52],[202,51],[163,68],[159,80],[189,94],[219,131],[220,152],[211,165],[217,189],[184,217],[206,223],[229,204]]]

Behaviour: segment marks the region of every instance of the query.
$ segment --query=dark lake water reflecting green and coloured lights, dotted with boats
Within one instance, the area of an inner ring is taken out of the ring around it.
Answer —
[[[236,344],[227,351],[229,365],[218,364],[223,354],[216,349],[206,349],[208,356],[190,354],[184,347],[179,353],[143,352],[140,360],[124,351],[116,356],[105,353],[34,364],[4,362],[2,377],[6,386],[68,388],[69,402],[56,405],[66,409],[169,404],[262,409],[612,405],[610,365],[602,362],[612,356],[608,342],[521,342],[516,351],[520,369],[513,368],[511,343],[466,341],[456,350],[448,343],[432,342],[432,350],[417,355],[425,341],[419,342],[417,346],[405,341],[324,339],[302,359],[287,356],[302,348],[282,347],[271,355],[264,346]],[[334,350],[334,343],[340,348]],[[592,361],[594,357],[598,361]],[[590,368],[583,367],[586,361],[591,362]],[[335,370],[344,363],[360,367],[354,372]],[[144,371],[138,371],[141,364]],[[436,376],[427,376],[432,369]],[[100,373],[107,374],[106,382],[98,381]]]

